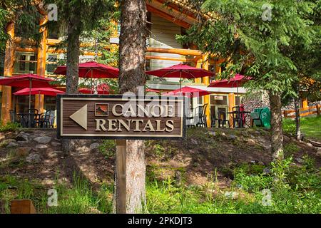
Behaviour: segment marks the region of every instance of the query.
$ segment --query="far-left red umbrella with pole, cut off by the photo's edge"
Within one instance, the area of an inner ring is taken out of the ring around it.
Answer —
[[[53,87],[50,84],[54,80],[37,76],[36,74],[23,74],[19,76],[12,76],[0,79],[1,86],[11,86],[18,88],[29,88],[29,114],[31,114],[31,88]],[[30,115],[29,115],[29,128],[31,127]]]

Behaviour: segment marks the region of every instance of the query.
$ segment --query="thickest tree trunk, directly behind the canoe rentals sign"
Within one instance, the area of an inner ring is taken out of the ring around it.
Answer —
[[[121,1],[121,35],[119,37],[119,90],[138,93],[144,86],[146,50],[146,1]],[[143,212],[146,204],[146,164],[143,140],[126,140],[126,213]],[[120,154],[116,157],[120,159]],[[117,158],[116,158],[117,159]],[[118,169],[116,169],[118,170]],[[116,173],[116,179],[120,175]],[[117,181],[117,180],[115,180]],[[116,196],[117,196],[116,189]],[[117,200],[116,200],[117,201]]]

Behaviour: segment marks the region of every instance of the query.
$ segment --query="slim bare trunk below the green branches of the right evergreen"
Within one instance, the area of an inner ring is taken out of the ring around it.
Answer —
[[[280,93],[269,91],[271,110],[271,149],[273,160],[283,159],[283,135]]]

